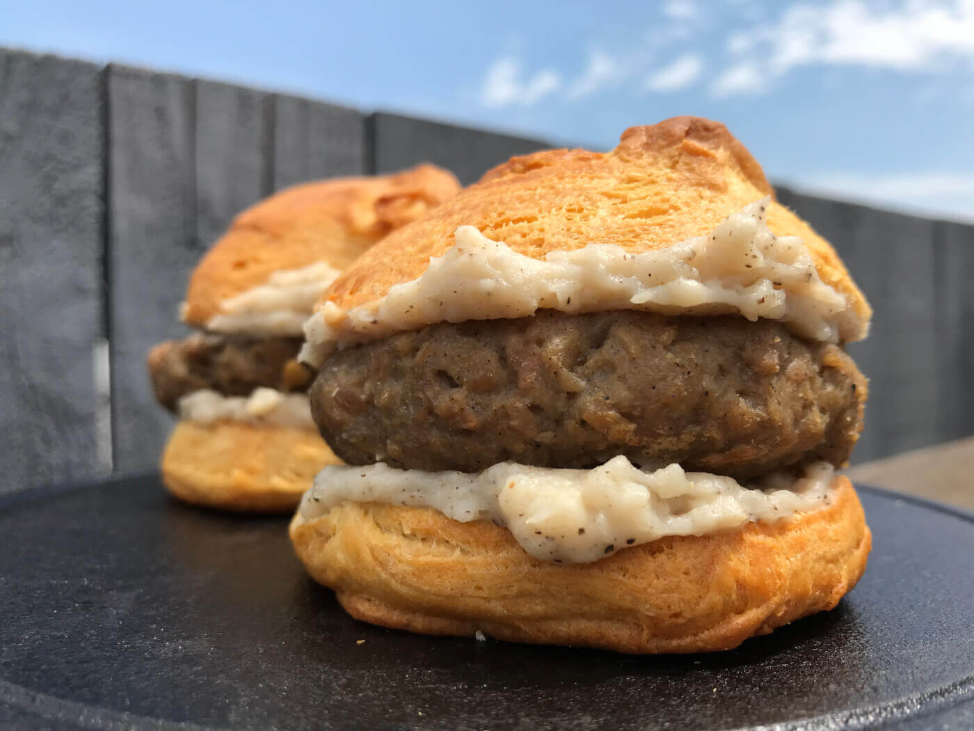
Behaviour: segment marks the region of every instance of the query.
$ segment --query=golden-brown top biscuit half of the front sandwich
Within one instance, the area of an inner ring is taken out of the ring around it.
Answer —
[[[366,251],[326,298],[348,310],[386,295],[421,276],[430,257],[449,250],[454,231],[466,224],[539,259],[587,244],[658,250],[709,234],[768,195],[773,191],[761,166],[724,125],[674,117],[626,130],[608,153],[547,150],[512,158]],[[767,222],[778,236],[800,237],[822,281],[868,322],[869,304],[827,241],[776,201]]]

